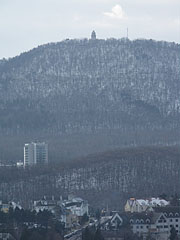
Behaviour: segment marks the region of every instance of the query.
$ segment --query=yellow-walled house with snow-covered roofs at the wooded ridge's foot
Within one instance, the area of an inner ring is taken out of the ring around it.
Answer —
[[[152,210],[153,207],[165,207],[169,202],[160,198],[135,199],[130,198],[125,204],[125,212],[145,212]]]

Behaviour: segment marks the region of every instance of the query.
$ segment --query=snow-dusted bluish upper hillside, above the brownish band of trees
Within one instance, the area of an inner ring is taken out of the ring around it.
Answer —
[[[179,45],[168,42],[84,39],[1,61],[1,130],[177,125],[179,52]]]

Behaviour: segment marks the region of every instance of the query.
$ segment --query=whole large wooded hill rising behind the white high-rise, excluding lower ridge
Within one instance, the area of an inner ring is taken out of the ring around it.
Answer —
[[[50,161],[119,147],[176,145],[180,45],[65,40],[0,61],[0,160],[23,160],[26,141]]]

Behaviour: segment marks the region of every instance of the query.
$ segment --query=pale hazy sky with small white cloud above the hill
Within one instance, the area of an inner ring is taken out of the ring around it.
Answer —
[[[180,0],[0,0],[0,58],[66,38],[180,43]]]

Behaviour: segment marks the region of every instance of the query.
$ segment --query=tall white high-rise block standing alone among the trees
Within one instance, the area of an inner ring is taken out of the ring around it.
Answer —
[[[24,145],[24,167],[48,163],[48,144],[40,142]]]

